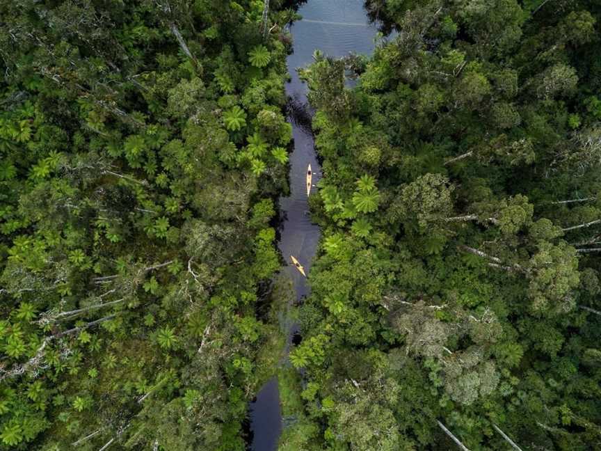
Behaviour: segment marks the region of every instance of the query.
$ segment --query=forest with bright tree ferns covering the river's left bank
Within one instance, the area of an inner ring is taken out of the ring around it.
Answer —
[[[282,3],[0,2],[0,450],[244,448]]]

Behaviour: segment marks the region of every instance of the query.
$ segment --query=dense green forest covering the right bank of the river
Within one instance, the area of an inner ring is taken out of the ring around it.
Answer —
[[[394,37],[302,73],[325,235],[303,446],[599,449],[600,6],[367,3]]]

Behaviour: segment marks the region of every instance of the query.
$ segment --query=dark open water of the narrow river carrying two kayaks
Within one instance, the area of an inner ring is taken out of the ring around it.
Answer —
[[[298,13],[303,19],[294,22],[291,32],[294,38],[294,53],[288,57],[288,71],[291,81],[286,92],[294,104],[306,104],[307,87],[298,79],[297,68],[303,68],[312,62],[316,49],[328,56],[346,56],[350,52],[371,54],[374,50],[376,26],[369,24],[363,0],[308,0]],[[319,243],[319,227],[311,222],[307,204],[305,186],[307,166],[313,170],[313,184],[319,182],[321,167],[316,158],[313,136],[307,127],[292,123],[294,152],[290,155],[290,196],[280,198],[281,230],[280,251],[289,263],[282,271],[289,271],[294,281],[296,299],[307,296],[307,280],[291,265],[290,256],[294,255],[310,277],[312,260]],[[312,192],[316,187],[312,187]],[[295,332],[292,326],[288,331],[289,342]],[[280,349],[273,349],[280,352]],[[274,451],[278,449],[278,438],[282,432],[282,414],[278,381],[271,379],[250,404],[250,430],[253,451]]]

